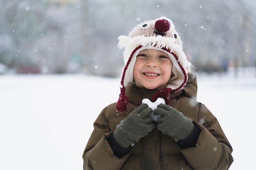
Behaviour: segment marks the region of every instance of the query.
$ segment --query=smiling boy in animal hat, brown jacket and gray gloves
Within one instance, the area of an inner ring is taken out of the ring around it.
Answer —
[[[94,122],[84,169],[227,170],[231,145],[217,119],[195,100],[196,77],[173,22],[143,22],[119,37],[119,47],[126,64],[121,94]]]

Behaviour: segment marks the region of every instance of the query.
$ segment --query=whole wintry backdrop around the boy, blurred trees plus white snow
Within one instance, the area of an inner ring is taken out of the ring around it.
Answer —
[[[251,169],[256,0],[0,0],[0,170],[82,170],[94,120],[119,97],[118,36],[161,16],[234,148],[230,170]]]

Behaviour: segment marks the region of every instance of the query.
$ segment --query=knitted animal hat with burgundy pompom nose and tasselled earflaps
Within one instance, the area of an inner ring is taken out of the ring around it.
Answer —
[[[180,91],[187,82],[187,73],[190,72],[191,63],[186,59],[182,51],[182,41],[175,31],[173,22],[161,17],[156,20],[142,22],[130,31],[128,36],[119,36],[119,48],[124,50],[124,71],[121,77],[121,95],[116,105],[119,112],[127,110],[129,99],[125,95],[125,88],[133,81],[133,68],[136,56],[144,49],[157,49],[168,54],[173,63],[172,75],[166,88],[159,89],[152,97],[165,99],[169,104],[171,92]]]

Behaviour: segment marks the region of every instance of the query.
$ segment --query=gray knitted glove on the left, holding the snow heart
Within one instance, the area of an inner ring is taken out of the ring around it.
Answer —
[[[121,121],[113,134],[117,143],[124,147],[129,148],[139,139],[148,135],[155,125],[153,120],[148,115],[153,110],[147,104],[141,104],[138,108],[133,110],[124,120]]]

